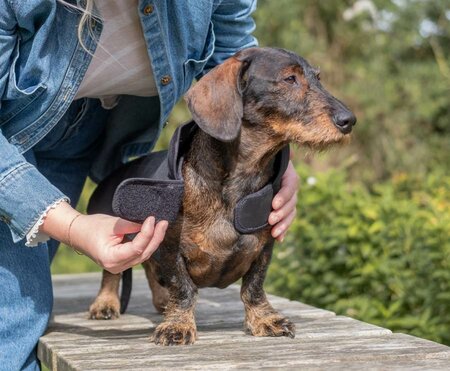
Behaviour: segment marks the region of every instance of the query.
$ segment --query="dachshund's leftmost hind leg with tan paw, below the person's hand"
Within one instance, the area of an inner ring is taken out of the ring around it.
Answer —
[[[121,274],[103,271],[102,284],[89,308],[90,319],[113,319],[120,316],[119,284]]]

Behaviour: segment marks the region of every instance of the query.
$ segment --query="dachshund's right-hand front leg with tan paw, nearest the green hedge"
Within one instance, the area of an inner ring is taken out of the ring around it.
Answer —
[[[242,279],[241,299],[245,306],[244,329],[254,336],[295,336],[295,325],[270,305],[264,279],[270,263],[273,240],[267,243]]]

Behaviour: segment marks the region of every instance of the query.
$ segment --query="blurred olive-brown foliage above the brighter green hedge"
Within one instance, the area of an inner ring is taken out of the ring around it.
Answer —
[[[323,84],[358,117],[352,173],[450,169],[450,1],[260,0],[262,46],[319,66]]]

